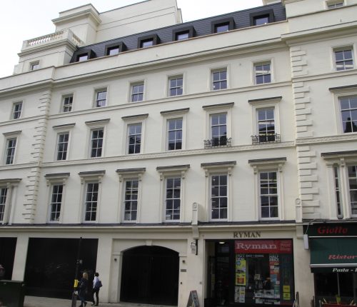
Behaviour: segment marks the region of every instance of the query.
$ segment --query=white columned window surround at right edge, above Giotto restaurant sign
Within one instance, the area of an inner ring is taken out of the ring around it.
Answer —
[[[328,196],[330,202],[329,214],[331,219],[342,218],[344,220],[357,218],[352,215],[350,186],[348,181],[348,166],[357,166],[357,151],[343,151],[341,153],[321,154],[327,167]],[[334,169],[338,168],[341,216],[338,216],[336,186]]]

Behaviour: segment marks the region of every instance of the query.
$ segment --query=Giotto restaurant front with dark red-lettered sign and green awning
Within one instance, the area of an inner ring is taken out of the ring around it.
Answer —
[[[305,226],[316,306],[357,303],[357,223]]]

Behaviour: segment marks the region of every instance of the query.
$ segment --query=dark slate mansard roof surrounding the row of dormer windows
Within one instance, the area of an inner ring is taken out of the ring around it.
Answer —
[[[171,41],[175,41],[175,32],[188,31],[188,29],[191,29],[191,31],[193,30],[193,37],[197,37],[212,34],[214,24],[222,24],[228,21],[231,22],[232,29],[246,28],[248,26],[253,26],[253,19],[256,16],[269,16],[269,23],[284,21],[286,20],[286,11],[281,3],[258,6],[253,9],[235,11],[196,21],[188,21],[182,24],[175,24],[174,26],[166,26],[161,29],[132,34],[117,39],[111,39],[109,41],[102,41],[97,44],[81,46],[74,52],[71,63],[78,61],[78,56],[82,54],[88,54],[89,59],[106,56],[106,49],[111,46],[121,45],[120,51],[138,49],[139,39],[154,37],[157,40],[156,44],[170,43]]]

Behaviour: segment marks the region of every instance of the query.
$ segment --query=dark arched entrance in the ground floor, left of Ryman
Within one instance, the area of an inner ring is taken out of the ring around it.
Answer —
[[[177,306],[178,253],[160,246],[124,252],[121,301]]]

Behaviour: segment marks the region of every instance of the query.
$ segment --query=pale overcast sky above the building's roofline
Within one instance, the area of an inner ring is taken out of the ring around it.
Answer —
[[[0,10],[0,78],[9,76],[19,63],[22,41],[53,33],[52,19],[60,11],[93,4],[109,11],[142,0],[4,0]],[[262,0],[177,0],[183,22],[263,5]]]

